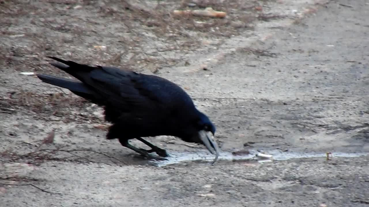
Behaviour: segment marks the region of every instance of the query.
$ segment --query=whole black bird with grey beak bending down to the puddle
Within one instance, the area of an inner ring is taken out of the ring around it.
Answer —
[[[165,158],[162,157],[168,157],[166,151],[142,137],[175,136],[186,142],[205,145],[215,154],[213,163],[217,160],[219,149],[213,140],[214,124],[195,108],[192,99],[177,84],[158,76],[116,67],[89,66],[57,57],[49,58],[58,61],[51,65],[79,81],[45,74],[37,74],[37,77],[103,106],[105,120],[113,123],[107,139],[117,138],[124,147],[146,158],[163,160]],[[151,150],[129,144],[128,140],[134,138],[151,147]],[[149,154],[151,152],[161,157]]]

